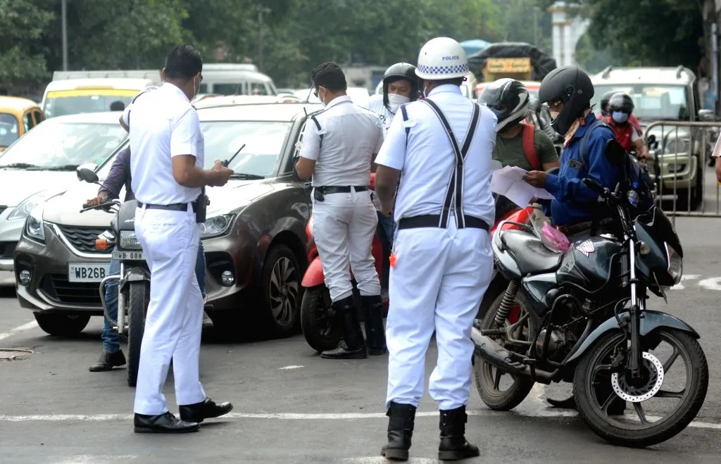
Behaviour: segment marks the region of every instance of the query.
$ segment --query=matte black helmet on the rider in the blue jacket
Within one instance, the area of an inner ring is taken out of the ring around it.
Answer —
[[[593,84],[588,74],[578,66],[562,66],[555,68],[541,81],[539,100],[541,103],[563,102],[563,110],[553,120],[552,125],[557,133],[565,135],[573,121],[583,117],[583,112],[590,107],[593,98]]]

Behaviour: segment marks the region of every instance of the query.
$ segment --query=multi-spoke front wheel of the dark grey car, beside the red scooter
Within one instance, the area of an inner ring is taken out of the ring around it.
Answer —
[[[298,329],[301,308],[301,273],[298,259],[286,245],[268,251],[263,263],[262,319],[271,336],[291,336]]]

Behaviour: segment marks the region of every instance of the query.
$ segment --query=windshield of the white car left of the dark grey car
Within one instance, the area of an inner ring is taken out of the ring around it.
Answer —
[[[100,164],[128,137],[118,122],[45,121],[0,156],[0,169],[67,169]]]

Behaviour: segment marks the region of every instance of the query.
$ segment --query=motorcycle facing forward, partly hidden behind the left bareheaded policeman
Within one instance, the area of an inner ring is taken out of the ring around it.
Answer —
[[[97,174],[91,169],[79,168],[78,178],[92,184],[99,184]],[[97,236],[96,246],[112,250],[112,258],[120,262],[118,275],[109,275],[100,282],[99,292],[105,317],[118,327],[118,333],[125,334],[125,316],[127,316],[128,335],[128,385],[136,386],[140,349],[145,330],[145,316],[150,302],[150,268],[145,260],[143,248],[136,238],[135,213],[138,202],[130,200],[120,202],[111,200],[97,206],[83,205],[81,212],[105,210],[115,214],[110,228]],[[118,320],[107,314],[105,304],[105,286],[110,280],[118,281]]]

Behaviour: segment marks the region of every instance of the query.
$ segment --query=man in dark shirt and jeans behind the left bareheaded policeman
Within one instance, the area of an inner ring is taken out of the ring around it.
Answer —
[[[120,197],[120,190],[125,187],[125,200],[135,198],[131,189],[131,148],[123,148],[110,166],[110,172],[102,187],[97,192],[97,197],[87,200],[89,206],[99,205],[102,202]],[[117,259],[110,260],[110,275],[120,272],[120,262]],[[205,254],[203,243],[198,246],[198,259],[195,262],[195,275],[198,278],[200,293],[205,298]],[[118,318],[118,281],[110,280],[105,286],[105,305],[110,317]],[[203,329],[213,326],[213,321],[208,313],[203,312]],[[113,367],[125,365],[125,355],[120,350],[120,334],[112,328],[112,324],[105,318],[102,326],[102,354],[97,363],[89,367],[90,372],[103,372]]]

